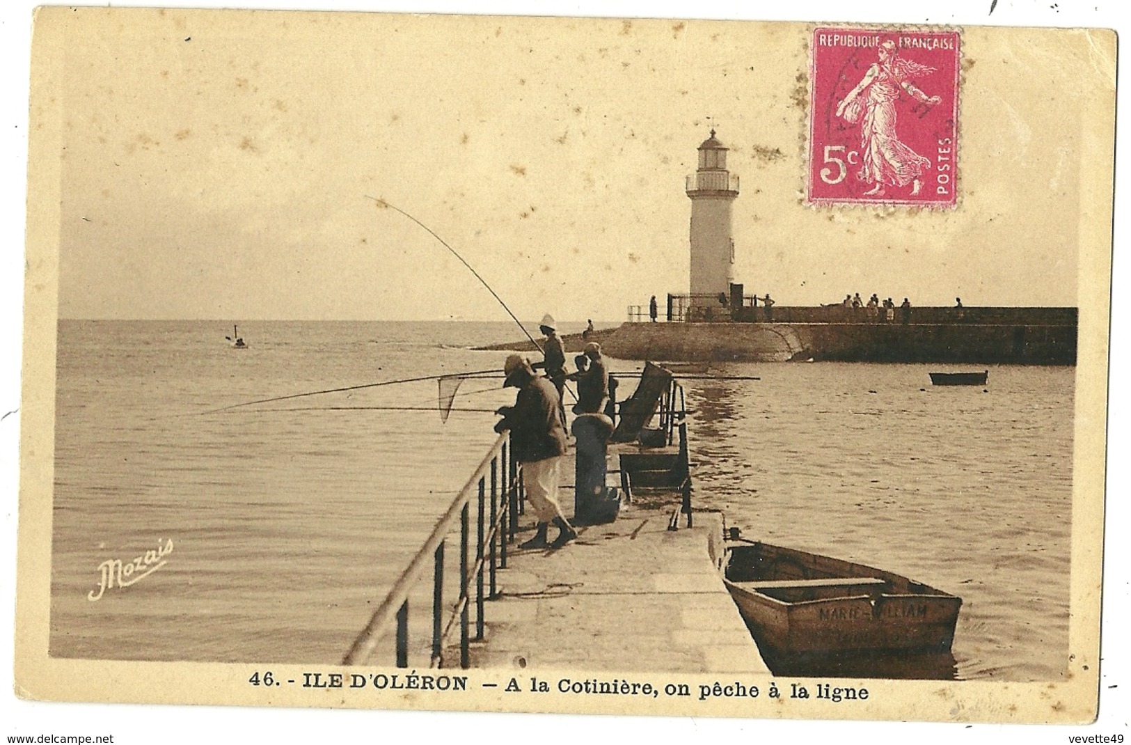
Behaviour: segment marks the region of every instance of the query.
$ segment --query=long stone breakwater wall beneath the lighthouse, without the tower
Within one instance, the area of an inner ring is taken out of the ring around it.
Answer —
[[[800,320],[822,317],[829,320]],[[1076,308],[965,308],[961,315],[917,308],[909,323],[898,309],[891,322],[872,318],[866,309],[774,308],[772,322],[627,323],[589,340],[625,360],[1076,363]],[[584,345],[580,334],[564,342],[567,352]],[[533,352],[534,345],[490,349]]]

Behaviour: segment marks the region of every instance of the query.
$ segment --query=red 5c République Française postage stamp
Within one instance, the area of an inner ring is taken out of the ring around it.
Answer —
[[[959,34],[817,28],[809,203],[956,204]]]

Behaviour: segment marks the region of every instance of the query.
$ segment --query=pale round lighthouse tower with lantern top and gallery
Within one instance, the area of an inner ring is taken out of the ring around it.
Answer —
[[[691,305],[718,307],[734,281],[731,205],[739,196],[739,177],[726,170],[727,147],[710,137],[699,146],[699,169],[687,178],[691,199]],[[715,299],[715,300],[713,300]]]

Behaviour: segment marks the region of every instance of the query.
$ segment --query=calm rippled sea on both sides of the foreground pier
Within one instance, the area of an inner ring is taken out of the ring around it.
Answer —
[[[446,423],[434,380],[210,410],[498,369],[506,352],[465,348],[516,332],[260,322],[232,350],[213,322],[61,322],[51,653],[340,661],[494,440],[491,413],[460,409],[513,394],[468,379]],[[994,367],[985,393],[933,388],[929,369],[734,363],[711,371],[761,380],[689,380],[696,504],[961,596],[961,678],[1059,678],[1074,369]],[[88,599],[103,562],[167,541],[159,571]]]

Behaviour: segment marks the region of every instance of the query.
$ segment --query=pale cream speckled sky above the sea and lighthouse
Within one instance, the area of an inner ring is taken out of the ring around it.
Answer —
[[[688,291],[711,126],[748,293],[1077,301],[1077,160],[1110,85],[1079,38],[967,28],[957,209],[818,209],[801,27],[67,15],[61,317],[507,319],[380,198],[523,319],[623,319]]]

